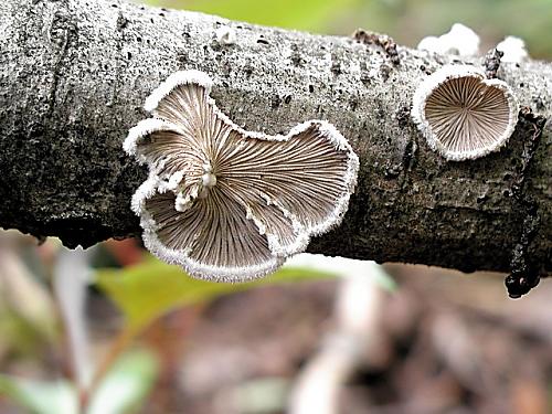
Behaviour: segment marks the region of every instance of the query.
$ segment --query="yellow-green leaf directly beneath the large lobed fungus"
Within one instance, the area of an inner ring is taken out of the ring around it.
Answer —
[[[121,269],[98,269],[98,286],[127,317],[127,328],[139,330],[179,306],[212,300],[257,286],[312,280],[333,276],[309,268],[284,267],[274,275],[245,284],[223,284],[189,277],[178,266],[158,259]]]

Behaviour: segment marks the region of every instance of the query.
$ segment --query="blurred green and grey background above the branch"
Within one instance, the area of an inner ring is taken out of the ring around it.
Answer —
[[[481,36],[482,49],[507,35],[523,39],[535,59],[552,56],[552,0],[149,0],[232,20],[349,35],[357,28],[386,33],[415,47],[458,22]]]

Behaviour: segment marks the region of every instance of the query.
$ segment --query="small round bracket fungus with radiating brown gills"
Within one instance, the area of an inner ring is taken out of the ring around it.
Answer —
[[[429,147],[450,161],[498,151],[518,123],[518,103],[502,81],[470,65],[447,65],[416,88],[412,118]]]

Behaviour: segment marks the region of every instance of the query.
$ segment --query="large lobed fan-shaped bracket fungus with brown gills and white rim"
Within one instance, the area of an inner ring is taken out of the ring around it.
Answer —
[[[160,259],[198,278],[244,282],[341,222],[359,160],[323,120],[286,136],[246,131],[216,107],[211,87],[203,72],[177,72],[147,98],[153,117],[124,142],[149,167],[131,208]]]

